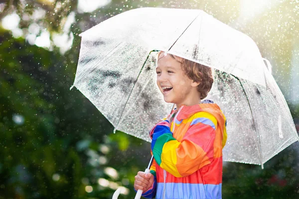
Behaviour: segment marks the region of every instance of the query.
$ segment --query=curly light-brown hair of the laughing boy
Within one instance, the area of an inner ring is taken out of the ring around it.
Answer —
[[[163,51],[158,52],[158,57]],[[174,60],[181,64],[181,69],[185,75],[194,82],[200,83],[197,91],[200,93],[200,100],[207,97],[214,83],[214,70],[202,64],[169,54]],[[181,60],[178,60],[180,58]]]

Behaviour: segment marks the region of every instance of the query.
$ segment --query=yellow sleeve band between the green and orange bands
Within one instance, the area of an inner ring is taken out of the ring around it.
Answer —
[[[176,148],[179,146],[177,140],[171,140],[164,144],[161,154],[161,164],[160,167],[175,177],[182,177],[176,168]]]

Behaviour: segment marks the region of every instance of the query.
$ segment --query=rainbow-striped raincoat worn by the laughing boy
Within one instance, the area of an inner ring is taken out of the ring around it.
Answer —
[[[181,106],[168,117],[170,123],[164,118],[149,132],[154,183],[142,196],[221,199],[222,148],[227,134],[220,107],[216,103]]]

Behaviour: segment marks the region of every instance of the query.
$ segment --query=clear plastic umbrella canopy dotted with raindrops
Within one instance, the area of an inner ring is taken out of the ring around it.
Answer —
[[[133,9],[81,36],[72,87],[116,130],[150,141],[149,129],[171,110],[155,83],[156,54],[163,50],[215,69],[207,98],[227,117],[224,161],[263,166],[299,140],[271,65],[255,42],[202,10]]]

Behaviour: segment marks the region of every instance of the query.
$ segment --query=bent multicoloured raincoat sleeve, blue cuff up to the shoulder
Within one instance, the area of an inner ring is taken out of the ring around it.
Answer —
[[[169,122],[168,126],[165,122],[156,125],[151,132],[151,150],[156,164],[175,177],[188,176],[210,164],[215,150],[219,157],[222,155],[222,138],[216,136],[217,120],[213,115],[196,113],[180,125],[189,126],[181,142],[172,136]]]

